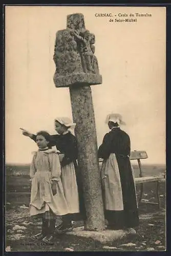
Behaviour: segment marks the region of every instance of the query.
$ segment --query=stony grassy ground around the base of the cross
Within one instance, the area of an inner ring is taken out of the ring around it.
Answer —
[[[157,173],[155,169],[155,172]],[[162,172],[162,170],[161,170]],[[149,173],[149,170],[148,170]],[[30,184],[28,176],[7,176],[6,178],[6,246],[11,251],[65,251],[70,247],[74,251],[146,251],[165,250],[165,183],[160,185],[161,209],[157,205],[142,203],[139,207],[140,225],[136,236],[126,237],[109,245],[102,245],[91,239],[62,235],[55,238],[53,246],[45,246],[33,242],[30,237],[39,232],[41,223],[33,223],[29,217]],[[143,199],[156,201],[156,185],[144,185]],[[139,187],[137,186],[137,195]],[[23,205],[25,205],[23,207]],[[75,226],[83,223],[77,222]],[[23,237],[13,230],[15,225],[26,227],[19,231]],[[18,237],[17,237],[18,236]],[[128,244],[131,243],[131,244]],[[130,246],[124,246],[128,244]],[[107,246],[107,247],[106,247]]]

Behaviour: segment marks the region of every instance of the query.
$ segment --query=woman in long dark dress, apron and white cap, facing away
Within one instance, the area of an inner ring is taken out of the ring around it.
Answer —
[[[106,123],[111,131],[105,134],[98,149],[98,157],[103,159],[101,181],[105,219],[109,229],[133,230],[139,225],[139,217],[130,162],[130,137],[119,127],[125,124],[121,115],[108,115]]]

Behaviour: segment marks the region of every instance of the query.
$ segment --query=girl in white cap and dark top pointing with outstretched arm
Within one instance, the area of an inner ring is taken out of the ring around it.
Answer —
[[[77,167],[77,140],[70,132],[75,127],[68,117],[55,119],[55,130],[58,134],[51,135],[49,147],[56,146],[61,153],[61,181],[66,201],[69,205],[69,214],[62,217],[62,226],[58,232],[72,230],[72,220],[75,218],[86,219],[86,210],[82,198],[82,185]],[[23,130],[25,136],[35,141],[36,136]],[[80,214],[79,213],[80,211]]]

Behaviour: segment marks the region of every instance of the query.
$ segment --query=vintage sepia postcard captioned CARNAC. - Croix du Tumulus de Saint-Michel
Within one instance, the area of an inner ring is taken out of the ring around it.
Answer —
[[[166,250],[166,8],[5,7],[6,251]]]

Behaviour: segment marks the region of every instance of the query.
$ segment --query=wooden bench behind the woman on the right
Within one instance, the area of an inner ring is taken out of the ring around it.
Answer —
[[[139,166],[139,177],[135,178],[135,183],[140,184],[140,196],[139,196],[139,200],[138,200],[138,205],[140,203],[157,204],[158,208],[160,208],[159,185],[160,185],[161,181],[165,180],[165,177],[164,177],[164,175],[163,176],[143,176],[142,165],[141,165],[140,159],[146,159],[146,158],[148,158],[148,156],[145,151],[132,151],[131,155],[130,155],[130,160],[137,160],[138,166]],[[103,161],[103,159],[99,158],[99,163],[102,161]],[[147,182],[156,182],[157,183],[157,187],[156,187],[157,203],[142,201],[143,184],[147,183]]]

